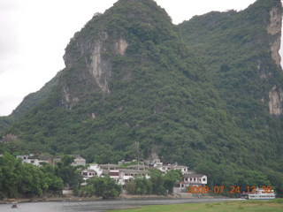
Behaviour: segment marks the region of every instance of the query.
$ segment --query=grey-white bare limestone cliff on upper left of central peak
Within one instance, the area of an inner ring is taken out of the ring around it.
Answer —
[[[99,17],[94,17],[94,19],[99,19]],[[82,89],[88,89],[88,92],[110,94],[111,57],[115,55],[123,56],[126,52],[127,42],[121,36],[119,38],[109,36],[107,30],[101,30],[91,37],[85,36],[84,30],[86,29],[82,29],[80,34],[75,34],[66,48],[64,56],[65,72],[68,72],[68,70],[72,72],[73,69],[76,69],[75,75],[76,77],[79,76],[78,83],[83,83],[85,87],[82,87]],[[79,69],[78,64],[80,64]],[[68,87],[67,84],[65,82],[65,85],[61,88],[62,105],[71,110],[73,105],[80,101],[80,94],[78,94],[77,89]]]

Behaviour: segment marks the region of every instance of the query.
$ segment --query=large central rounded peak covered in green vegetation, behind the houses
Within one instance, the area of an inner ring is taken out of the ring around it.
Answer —
[[[155,151],[164,162],[199,170],[221,164],[210,182],[227,185],[267,167],[265,155],[279,159],[277,140],[264,148],[269,140],[255,139],[256,132],[239,124],[246,117],[227,108],[213,86],[215,73],[188,49],[154,1],[119,0],[74,34],[57,83],[3,133],[19,140],[2,143],[2,151],[76,153],[88,162],[117,163],[136,158],[139,142],[142,158]]]

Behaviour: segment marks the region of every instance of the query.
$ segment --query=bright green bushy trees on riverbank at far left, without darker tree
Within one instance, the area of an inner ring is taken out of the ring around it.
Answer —
[[[62,189],[63,181],[53,173],[53,167],[38,168],[33,164],[21,163],[8,153],[0,157],[0,200],[56,194]]]

